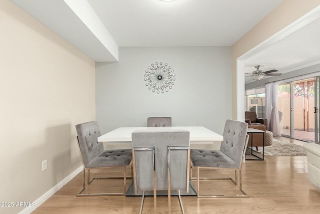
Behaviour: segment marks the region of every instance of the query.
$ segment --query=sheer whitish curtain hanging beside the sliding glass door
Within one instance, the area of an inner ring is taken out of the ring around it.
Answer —
[[[279,84],[277,82],[265,85],[265,118],[268,120],[268,130],[274,136],[281,136],[279,113],[276,108],[278,89]]]

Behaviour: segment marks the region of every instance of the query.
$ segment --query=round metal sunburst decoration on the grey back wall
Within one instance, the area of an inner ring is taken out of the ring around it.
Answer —
[[[167,63],[154,63],[145,70],[144,81],[149,90],[156,93],[168,92],[172,88],[175,81],[174,70]]]

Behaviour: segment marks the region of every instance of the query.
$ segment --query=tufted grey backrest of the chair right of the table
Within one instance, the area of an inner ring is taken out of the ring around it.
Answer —
[[[220,151],[232,159],[238,168],[241,166],[247,127],[247,123],[235,120],[226,120],[224,125]]]

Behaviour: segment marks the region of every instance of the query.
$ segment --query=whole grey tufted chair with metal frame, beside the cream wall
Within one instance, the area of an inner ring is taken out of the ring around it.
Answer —
[[[126,192],[126,166],[132,160],[131,149],[104,150],[103,144],[97,141],[101,135],[98,123],[90,121],[75,125],[77,132],[78,148],[83,165],[83,183],[82,189],[77,196],[86,195],[124,195]],[[93,177],[90,180],[90,169],[96,168],[123,168],[123,177]],[[85,189],[85,170],[87,170],[87,184],[94,179],[123,178],[124,189],[120,193],[82,193]]]

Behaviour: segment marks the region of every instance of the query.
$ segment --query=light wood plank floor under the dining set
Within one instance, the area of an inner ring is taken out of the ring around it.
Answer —
[[[287,142],[300,143],[290,139]],[[130,174],[130,169],[127,172]],[[194,176],[195,172],[193,170]],[[243,189],[249,194],[249,198],[182,196],[185,213],[320,213],[320,189],[308,181],[306,156],[265,156],[263,161],[246,160],[242,173]],[[220,171],[201,173],[203,176],[209,174],[225,176]],[[32,213],[138,213],[140,196],[76,197],[75,194],[82,185],[81,175],[82,172]],[[116,180],[97,182],[102,182],[99,183],[101,188],[107,183],[108,187],[104,188],[111,191],[119,189],[121,184]],[[200,190],[202,193],[236,191],[231,182],[222,182],[203,181],[200,183]],[[196,187],[196,182],[193,183]],[[143,213],[153,213],[151,196],[145,197]],[[167,213],[166,196],[157,197],[157,213]],[[181,213],[176,196],[171,197],[171,213]]]

